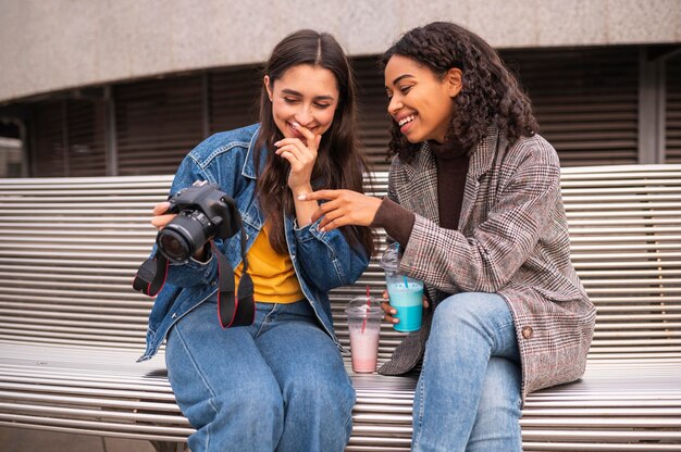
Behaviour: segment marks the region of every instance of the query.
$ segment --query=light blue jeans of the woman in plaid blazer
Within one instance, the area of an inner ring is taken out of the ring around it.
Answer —
[[[480,292],[443,300],[414,393],[412,450],[521,451],[520,384],[506,302]]]

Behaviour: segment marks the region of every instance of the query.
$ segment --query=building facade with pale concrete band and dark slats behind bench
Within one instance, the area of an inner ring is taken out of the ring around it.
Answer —
[[[366,152],[384,170],[377,55],[435,20],[499,50],[564,166],[681,163],[681,0],[3,3],[0,137],[21,147],[0,158],[9,176],[174,173],[208,135],[256,121],[262,62],[304,27],[351,55]]]

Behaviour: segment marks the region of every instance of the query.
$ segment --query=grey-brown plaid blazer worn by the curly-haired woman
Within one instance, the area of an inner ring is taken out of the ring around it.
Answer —
[[[435,160],[424,143],[412,163],[397,156],[388,197],[416,213],[400,272],[422,279],[431,305],[458,292],[492,292],[508,304],[522,367],[522,397],[580,378],[595,323],[570,262],[560,163],[541,136],[509,146],[496,128],[471,154],[458,230],[438,226]],[[432,313],[400,343],[382,374],[421,360]]]

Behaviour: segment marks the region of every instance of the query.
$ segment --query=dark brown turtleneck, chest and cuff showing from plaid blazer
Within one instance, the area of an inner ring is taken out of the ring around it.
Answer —
[[[437,167],[437,210],[439,226],[457,229],[468,174],[468,153],[455,146],[429,142]],[[409,241],[416,217],[396,202],[383,198],[372,226],[380,226],[404,247]]]

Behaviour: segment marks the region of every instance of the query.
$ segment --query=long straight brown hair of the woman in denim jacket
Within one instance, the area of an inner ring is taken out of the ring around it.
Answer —
[[[363,192],[362,174],[368,171],[357,134],[356,88],[352,70],[340,45],[333,36],[302,29],[285,37],[272,50],[264,67],[270,84],[281,78],[289,68],[310,64],[331,71],[338,84],[339,99],[334,120],[322,135],[312,183],[319,188],[345,188]],[[265,163],[258,176],[258,200],[271,225],[270,244],[278,253],[287,253],[284,235],[284,213],[294,214],[294,200],[286,184],[289,164],[274,153],[274,142],[284,138],[274,123],[272,103],[267,88],[260,95],[260,134],[256,141],[256,167],[260,167],[261,150]],[[340,228],[348,241],[363,247],[368,255],[373,253],[373,239],[368,227],[345,226]]]

